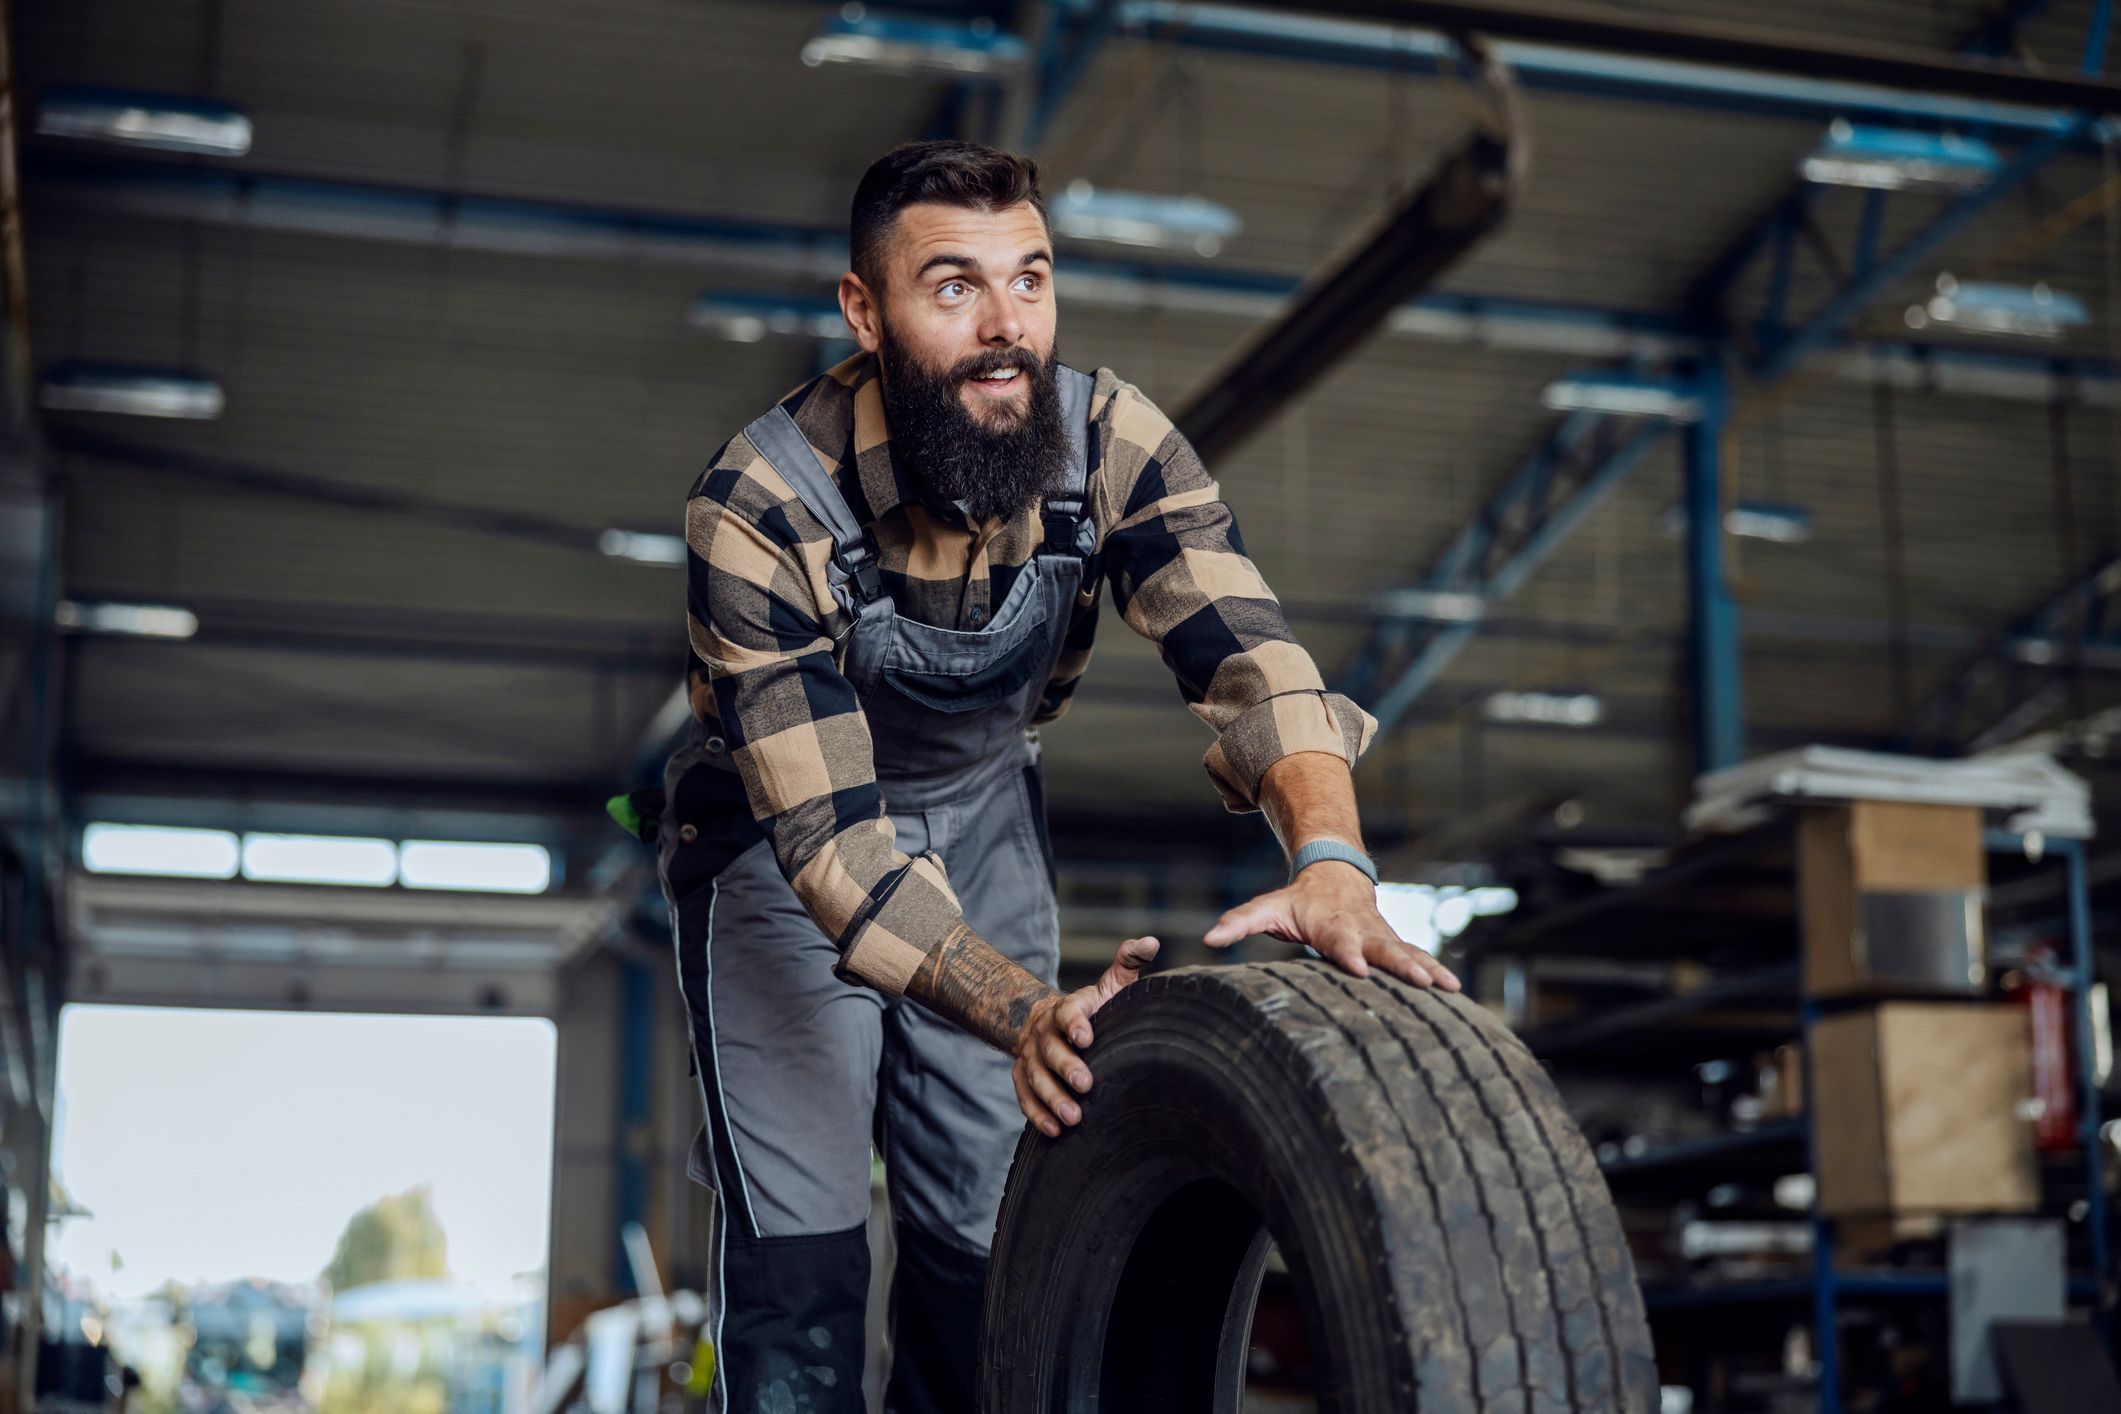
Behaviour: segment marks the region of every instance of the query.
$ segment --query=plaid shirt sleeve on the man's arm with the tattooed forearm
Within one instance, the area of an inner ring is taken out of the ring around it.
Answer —
[[[870,725],[834,657],[829,534],[736,439],[685,505],[685,543],[691,651],[751,814],[840,975],[897,996],[965,924],[942,859],[904,854],[884,814]]]

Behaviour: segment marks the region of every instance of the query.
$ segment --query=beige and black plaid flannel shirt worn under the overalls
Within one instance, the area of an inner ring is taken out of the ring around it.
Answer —
[[[891,449],[876,360],[857,354],[783,399],[876,536],[897,613],[976,630],[1044,538],[1039,509],[967,524],[923,498]],[[1097,371],[1090,513],[1101,579],[1082,587],[1037,723],[1058,719],[1090,661],[1099,596],[1154,640],[1215,740],[1205,765],[1230,810],[1258,806],[1281,757],[1353,763],[1377,723],[1328,693],[1245,555],[1192,445],[1133,384]],[[840,971],[897,996],[965,922],[942,861],[893,844],[870,729],[834,655],[848,617],[825,566],[831,534],[751,443],[715,454],[685,505],[694,733],[721,738],[781,871],[840,948]]]

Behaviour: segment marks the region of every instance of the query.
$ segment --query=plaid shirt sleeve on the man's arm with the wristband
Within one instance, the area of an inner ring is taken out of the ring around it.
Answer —
[[[1203,763],[1224,803],[1256,810],[1260,778],[1300,750],[1353,767],[1377,719],[1326,691],[1192,443],[1126,382],[1114,382],[1097,422],[1114,604],[1156,642],[1188,708],[1215,733]]]

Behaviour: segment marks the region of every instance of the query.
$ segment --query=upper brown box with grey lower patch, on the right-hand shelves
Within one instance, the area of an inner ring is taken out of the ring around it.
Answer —
[[[1796,892],[1809,996],[1964,996],[1987,982],[1987,852],[1975,806],[1805,810]]]

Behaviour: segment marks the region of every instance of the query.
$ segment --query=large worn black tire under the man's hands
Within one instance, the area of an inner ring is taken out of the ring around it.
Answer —
[[[1319,1410],[1657,1408],[1606,1183],[1478,1005],[1324,962],[1147,977],[1082,1126],[1027,1130],[986,1278],[986,1414],[1237,1414],[1264,1232]]]

